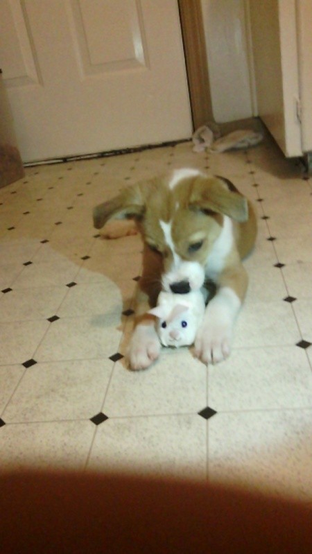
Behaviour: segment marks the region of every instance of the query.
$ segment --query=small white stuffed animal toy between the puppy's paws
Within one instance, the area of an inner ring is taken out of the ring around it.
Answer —
[[[157,317],[156,331],[163,346],[193,344],[204,317],[207,296],[204,287],[187,294],[159,293],[157,306],[148,313]]]

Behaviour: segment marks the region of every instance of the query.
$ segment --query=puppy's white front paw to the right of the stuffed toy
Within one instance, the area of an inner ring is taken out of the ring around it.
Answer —
[[[194,354],[202,363],[218,363],[231,352],[232,326],[203,325],[196,336]]]

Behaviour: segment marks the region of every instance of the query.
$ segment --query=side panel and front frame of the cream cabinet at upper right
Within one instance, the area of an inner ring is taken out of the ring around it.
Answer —
[[[311,0],[308,0],[311,3]],[[248,0],[258,112],[286,156],[302,154],[296,0]]]

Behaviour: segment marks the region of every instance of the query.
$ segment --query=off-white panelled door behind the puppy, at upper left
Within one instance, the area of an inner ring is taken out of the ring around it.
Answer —
[[[24,161],[188,138],[177,0],[1,0]]]

